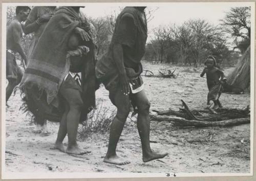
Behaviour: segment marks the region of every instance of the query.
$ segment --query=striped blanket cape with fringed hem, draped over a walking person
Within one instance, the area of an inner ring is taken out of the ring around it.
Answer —
[[[19,88],[26,94],[26,89],[37,87],[39,92],[46,93],[46,102],[58,108],[58,90],[69,72],[70,61],[67,61],[68,40],[76,27],[89,32],[90,24],[82,19],[72,7],[60,7],[49,20],[44,32],[30,57]],[[90,53],[82,57],[86,59],[82,70],[82,99],[84,114],[95,106],[95,58],[92,40],[84,43]],[[26,96],[29,96],[26,94]]]

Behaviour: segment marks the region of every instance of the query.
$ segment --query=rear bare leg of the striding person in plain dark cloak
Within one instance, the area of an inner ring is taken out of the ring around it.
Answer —
[[[122,133],[124,123],[130,112],[130,100],[129,96],[123,95],[120,90],[117,91],[114,100],[117,107],[117,114],[111,124],[108,152],[106,152],[103,162],[125,165],[130,162],[117,156],[116,147]]]

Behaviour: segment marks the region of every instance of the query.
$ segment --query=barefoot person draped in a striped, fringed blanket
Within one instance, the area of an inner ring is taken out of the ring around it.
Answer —
[[[81,18],[79,9],[60,7],[52,16],[35,45],[20,83],[29,111],[60,122],[55,148],[72,154],[87,152],[78,147],[77,129],[79,121],[86,120],[95,107],[96,88],[94,43],[88,33],[90,24]],[[67,149],[62,144],[66,135]]]

